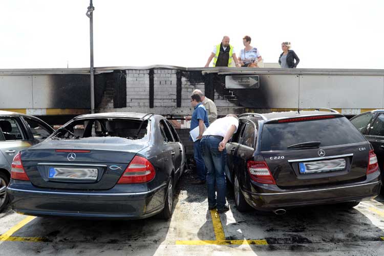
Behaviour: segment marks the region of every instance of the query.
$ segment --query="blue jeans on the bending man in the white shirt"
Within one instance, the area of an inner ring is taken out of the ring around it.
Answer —
[[[201,153],[207,167],[208,206],[223,209],[225,206],[226,179],[225,165],[227,161],[226,150],[219,151],[221,139],[217,137],[203,137],[200,142]],[[217,188],[217,199],[215,194]]]

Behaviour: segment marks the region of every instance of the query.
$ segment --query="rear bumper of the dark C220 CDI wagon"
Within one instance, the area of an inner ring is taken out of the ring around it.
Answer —
[[[275,185],[274,185],[275,186]],[[344,186],[306,189],[299,191],[279,191],[275,193],[255,193],[242,191],[245,200],[258,210],[289,209],[308,205],[335,204],[351,201],[366,201],[377,197],[381,182],[377,179],[368,183]]]

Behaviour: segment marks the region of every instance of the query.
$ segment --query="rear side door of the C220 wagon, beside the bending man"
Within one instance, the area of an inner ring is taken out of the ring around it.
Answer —
[[[253,159],[255,150],[255,137],[257,127],[252,121],[247,121],[243,135],[239,140],[239,148],[236,152],[236,165],[238,167],[238,178],[240,186],[249,184],[247,161]]]

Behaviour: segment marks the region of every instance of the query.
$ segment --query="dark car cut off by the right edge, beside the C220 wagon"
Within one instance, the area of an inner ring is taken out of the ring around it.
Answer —
[[[381,169],[381,180],[384,182],[384,110],[365,112],[350,121],[372,144]]]

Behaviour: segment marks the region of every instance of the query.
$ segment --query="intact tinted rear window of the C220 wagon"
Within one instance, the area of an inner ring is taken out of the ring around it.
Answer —
[[[261,151],[287,150],[290,145],[309,141],[330,146],[362,142],[365,139],[345,117],[271,123],[263,126]]]

